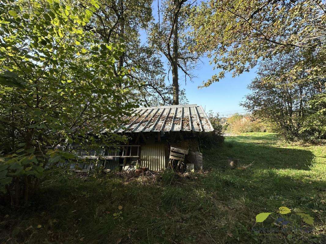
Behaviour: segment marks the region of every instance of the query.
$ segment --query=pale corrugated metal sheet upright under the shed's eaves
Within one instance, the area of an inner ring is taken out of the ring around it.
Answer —
[[[141,166],[149,170],[165,169],[164,144],[141,146]]]

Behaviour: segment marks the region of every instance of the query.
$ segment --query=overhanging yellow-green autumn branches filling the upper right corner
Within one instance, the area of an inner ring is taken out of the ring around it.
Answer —
[[[203,83],[249,71],[260,60],[293,49],[306,51],[301,67],[316,65],[310,76],[325,76],[326,5],[320,0],[223,0],[193,8],[190,22],[196,45],[222,71]],[[322,66],[320,66],[322,64]]]

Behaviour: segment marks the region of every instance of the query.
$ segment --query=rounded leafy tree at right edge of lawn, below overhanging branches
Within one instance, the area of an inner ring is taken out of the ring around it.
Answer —
[[[311,136],[308,131],[305,135],[301,133],[304,121],[312,114],[310,100],[324,93],[320,83],[325,79],[312,80],[309,77],[311,67],[298,68],[298,64],[305,60],[304,53],[299,49],[262,61],[258,76],[248,86],[253,93],[241,103],[252,116],[271,123],[274,129],[289,138]],[[322,126],[319,127],[320,136],[321,130]]]

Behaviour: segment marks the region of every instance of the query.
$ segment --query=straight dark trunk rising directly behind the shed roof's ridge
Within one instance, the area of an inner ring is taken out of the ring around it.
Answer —
[[[175,24],[173,33],[173,60],[172,60],[172,88],[173,88],[173,105],[179,105],[179,81],[178,81],[178,0],[174,1]]]

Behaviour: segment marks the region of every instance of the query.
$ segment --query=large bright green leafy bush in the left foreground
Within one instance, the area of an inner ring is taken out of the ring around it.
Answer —
[[[55,173],[51,165],[74,157],[48,147],[115,141],[100,129],[111,131],[135,107],[121,88],[131,71],[115,68],[124,46],[84,28],[98,7],[96,0],[83,9],[60,0],[0,3],[0,190],[12,205],[26,205]]]

